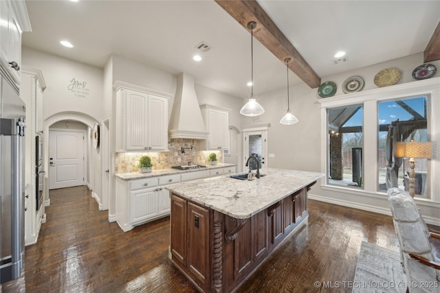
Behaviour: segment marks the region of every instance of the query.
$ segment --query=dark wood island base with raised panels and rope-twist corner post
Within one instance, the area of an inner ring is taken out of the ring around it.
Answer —
[[[201,292],[234,292],[286,237],[307,224],[307,191],[314,183],[248,219],[172,194],[171,262]]]

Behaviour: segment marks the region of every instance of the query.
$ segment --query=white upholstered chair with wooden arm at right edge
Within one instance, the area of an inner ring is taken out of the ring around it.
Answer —
[[[388,189],[388,202],[409,292],[440,292],[440,235],[431,233],[407,191]]]

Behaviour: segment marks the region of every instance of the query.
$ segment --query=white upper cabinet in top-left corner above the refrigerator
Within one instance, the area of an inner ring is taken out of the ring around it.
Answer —
[[[0,1],[0,63],[17,89],[21,84],[21,33],[30,32],[25,1]]]

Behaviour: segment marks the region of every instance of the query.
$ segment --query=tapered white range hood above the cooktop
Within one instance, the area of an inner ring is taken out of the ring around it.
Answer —
[[[195,95],[194,78],[187,73],[177,75],[177,89],[171,110],[170,139],[208,139],[199,101]]]

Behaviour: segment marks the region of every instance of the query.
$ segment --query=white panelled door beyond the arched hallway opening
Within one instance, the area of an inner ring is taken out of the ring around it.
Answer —
[[[84,185],[85,131],[49,132],[49,188]]]

